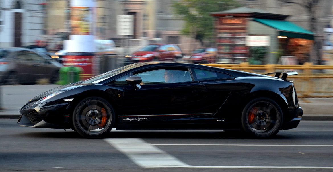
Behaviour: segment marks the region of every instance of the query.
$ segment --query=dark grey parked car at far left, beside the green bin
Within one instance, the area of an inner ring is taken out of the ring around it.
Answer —
[[[0,48],[0,81],[12,85],[35,83],[39,79],[59,79],[62,65],[49,56],[27,48]]]

